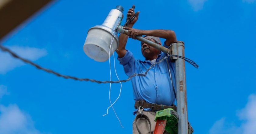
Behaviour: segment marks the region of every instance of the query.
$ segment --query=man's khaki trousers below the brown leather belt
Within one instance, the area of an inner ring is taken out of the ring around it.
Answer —
[[[154,132],[155,129],[155,111],[143,111],[143,115],[147,115],[150,122],[151,122],[151,133]],[[139,113],[137,112],[136,116],[140,116]],[[137,119],[137,126],[140,129],[140,132],[142,134],[149,134],[149,124],[148,121],[144,118],[138,118]],[[133,134],[139,134],[136,125],[135,125],[135,119],[133,120]],[[164,134],[169,134],[168,132],[164,132]]]

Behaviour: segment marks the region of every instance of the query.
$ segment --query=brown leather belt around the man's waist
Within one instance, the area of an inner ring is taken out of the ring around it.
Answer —
[[[135,102],[134,108],[137,109],[139,106],[142,108],[150,108],[152,111],[164,110],[166,108],[172,108],[174,111],[177,111],[177,108],[174,106],[165,106],[165,105],[159,105],[155,103],[151,104],[141,100]]]

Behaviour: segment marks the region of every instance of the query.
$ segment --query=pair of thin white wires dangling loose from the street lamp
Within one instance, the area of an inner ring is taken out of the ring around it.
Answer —
[[[113,33],[114,33],[114,32],[113,32]],[[116,37],[116,34],[115,34],[115,36],[114,36],[113,39],[112,39],[113,33],[112,33],[112,35],[111,35],[111,44],[110,44],[110,48],[112,48],[113,57],[114,57],[114,68],[115,68],[115,72],[116,72],[115,55],[114,55],[114,50],[113,50],[113,46],[112,46],[112,43],[113,43],[113,41],[114,41],[114,39],[115,39],[115,37]],[[111,77],[111,65],[110,65],[110,50],[111,50],[110,48],[109,48],[108,58],[109,58],[109,72],[110,72],[110,81],[111,81],[112,77]],[[116,72],[116,77],[117,77],[117,79],[119,80],[119,77],[118,77],[118,75],[117,75],[117,72]],[[120,97],[121,90],[122,90],[122,83],[120,82],[120,91],[119,91],[119,95],[118,95],[118,97],[116,98],[116,100],[114,101],[114,103],[112,104],[111,99],[110,99],[110,92],[111,92],[111,83],[110,83],[110,85],[109,85],[109,94],[108,94],[108,97],[109,97],[109,102],[110,102],[111,105],[107,108],[107,113],[104,114],[103,116],[107,115],[107,114],[108,114],[108,109],[109,109],[110,107],[112,107],[112,109],[113,109],[113,111],[114,111],[114,113],[115,113],[115,115],[116,115],[116,118],[118,119],[118,121],[119,121],[121,127],[124,128],[123,125],[122,125],[122,123],[121,123],[121,121],[120,121],[120,119],[118,118],[118,116],[117,116],[117,114],[116,114],[116,111],[115,111],[114,107],[113,107],[113,105],[116,103],[116,101],[117,101],[117,100],[119,99],[119,97]]]

